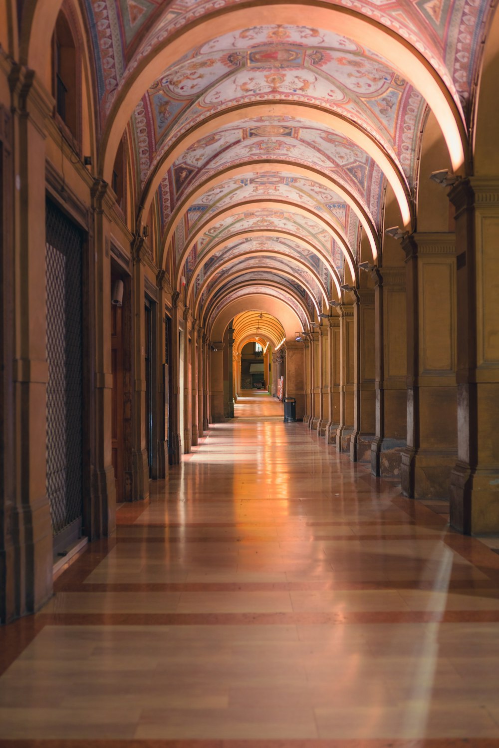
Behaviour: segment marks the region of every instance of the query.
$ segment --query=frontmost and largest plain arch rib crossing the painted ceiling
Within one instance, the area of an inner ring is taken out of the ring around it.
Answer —
[[[44,4],[49,4],[45,0]],[[317,28],[343,34],[369,48],[405,77],[417,91],[424,92],[426,101],[444,133],[454,171],[462,170],[467,153],[467,135],[462,111],[450,92],[451,83],[445,82],[422,52],[396,32],[352,8],[328,6],[318,0],[305,4],[281,5],[265,3],[266,17],[273,23],[300,25],[303,19]],[[102,134],[102,153],[99,174],[110,174],[121,133],[136,103],[150,84],[159,78],[186,49],[206,43],[220,34],[223,18],[224,33],[254,25],[254,4],[251,7],[221,8],[212,16],[186,25],[175,38],[166,38],[135,64],[114,99],[105,130]],[[448,83],[448,85],[447,85]],[[267,105],[267,111],[269,106]],[[403,213],[402,213],[403,215]],[[405,224],[408,221],[405,221]]]

